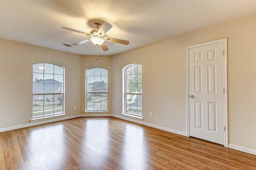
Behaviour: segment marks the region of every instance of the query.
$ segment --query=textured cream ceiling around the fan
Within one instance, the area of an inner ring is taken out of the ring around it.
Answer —
[[[90,33],[94,22],[108,22],[107,37],[130,41],[106,42],[114,55],[181,34],[256,13],[256,0],[0,0],[0,37],[80,55],[96,55],[88,37],[61,29]]]

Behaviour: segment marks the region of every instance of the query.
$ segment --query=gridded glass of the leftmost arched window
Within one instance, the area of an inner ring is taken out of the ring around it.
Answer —
[[[63,114],[64,68],[33,64],[33,118]]]

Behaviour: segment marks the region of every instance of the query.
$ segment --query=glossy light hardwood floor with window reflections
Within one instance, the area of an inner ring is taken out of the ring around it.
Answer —
[[[114,117],[80,117],[1,132],[0,169],[254,170],[256,155]]]

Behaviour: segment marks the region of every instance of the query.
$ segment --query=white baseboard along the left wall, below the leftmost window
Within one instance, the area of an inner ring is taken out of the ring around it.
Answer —
[[[8,131],[8,130],[14,130],[14,129],[18,129],[18,128],[32,127],[32,126],[36,126],[36,125],[42,125],[42,124],[52,123],[52,122],[57,122],[57,121],[63,121],[63,120],[66,120],[66,119],[73,119],[73,118],[76,118],[76,117],[80,117],[80,115],[60,117],[60,118],[56,118],[56,119],[48,119],[48,120],[37,121],[37,122],[34,122],[34,123],[28,123],[28,124],[24,124],[24,125],[17,125],[17,126],[14,126],[14,127],[0,128],[0,132],[5,132],[5,131]]]

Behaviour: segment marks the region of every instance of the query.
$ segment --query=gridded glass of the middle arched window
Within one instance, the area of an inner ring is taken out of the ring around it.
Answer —
[[[86,70],[86,111],[108,110],[108,70]]]

